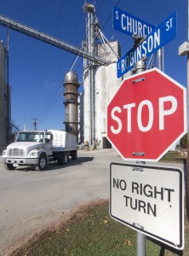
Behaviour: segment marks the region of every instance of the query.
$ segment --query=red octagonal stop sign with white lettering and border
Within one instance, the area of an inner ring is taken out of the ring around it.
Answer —
[[[107,137],[124,160],[158,161],[186,134],[186,88],[158,68],[124,79],[107,106]]]

